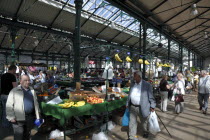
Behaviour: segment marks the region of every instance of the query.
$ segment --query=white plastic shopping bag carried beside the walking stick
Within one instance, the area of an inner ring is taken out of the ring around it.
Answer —
[[[151,133],[157,133],[160,132],[160,127],[159,127],[159,123],[157,120],[157,115],[154,112],[151,112],[150,116],[149,116],[149,131]]]

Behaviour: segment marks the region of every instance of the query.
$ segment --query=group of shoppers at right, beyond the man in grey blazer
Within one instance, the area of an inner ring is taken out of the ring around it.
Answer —
[[[195,91],[198,93],[198,103],[203,114],[207,113],[210,94],[210,76],[206,70],[200,73],[191,73],[187,70],[184,74],[179,72],[174,78],[173,84],[168,84],[168,76],[164,75],[160,81],[161,110],[167,111],[167,101],[172,93],[172,101],[175,101],[175,112],[181,113],[184,109],[184,95]]]

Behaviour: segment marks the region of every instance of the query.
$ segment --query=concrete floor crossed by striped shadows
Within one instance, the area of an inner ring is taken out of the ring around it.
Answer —
[[[210,140],[210,112],[206,115],[198,110],[199,105],[197,102],[196,93],[185,96],[185,109],[181,114],[174,113],[174,102],[169,101],[168,112],[163,113],[156,109],[158,116],[167,127],[172,135],[172,138],[167,133],[166,129],[161,122],[161,132],[156,135],[150,135],[148,140]],[[113,130],[108,132],[109,140],[127,140],[127,127],[117,125]],[[92,137],[96,129],[88,129],[74,135],[67,140],[85,140],[85,137]],[[139,127],[138,130],[139,140],[146,140],[142,138],[142,132]],[[49,134],[39,134],[36,130],[32,131],[32,140],[47,140]],[[63,138],[59,138],[63,139]],[[0,127],[0,140],[13,140],[12,130],[2,129]]]

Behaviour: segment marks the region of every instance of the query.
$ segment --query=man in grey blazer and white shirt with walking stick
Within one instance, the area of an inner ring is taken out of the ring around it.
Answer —
[[[150,111],[155,110],[155,99],[152,93],[152,86],[142,79],[140,71],[134,73],[134,82],[131,84],[130,93],[126,107],[130,111],[129,140],[135,140],[137,133],[137,116],[143,124],[144,138],[148,137],[148,118]]]

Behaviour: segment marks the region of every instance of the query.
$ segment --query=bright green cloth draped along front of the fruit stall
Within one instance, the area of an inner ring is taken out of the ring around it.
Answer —
[[[72,116],[82,116],[82,115],[95,115],[102,112],[113,111],[117,108],[120,108],[126,104],[127,97],[114,100],[111,102],[105,101],[104,103],[99,104],[85,104],[81,107],[71,107],[71,108],[62,108],[58,105],[46,104],[45,102],[40,103],[41,111],[44,115],[52,116],[56,119],[59,119],[60,125],[64,125],[65,121],[71,118]],[[106,110],[107,107],[107,110]]]

